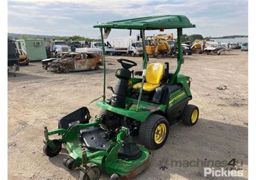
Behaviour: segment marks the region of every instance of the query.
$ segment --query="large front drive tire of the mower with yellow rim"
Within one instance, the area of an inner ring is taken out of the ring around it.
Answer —
[[[169,122],[159,114],[151,114],[139,128],[139,140],[149,149],[159,149],[164,146],[168,135]]]

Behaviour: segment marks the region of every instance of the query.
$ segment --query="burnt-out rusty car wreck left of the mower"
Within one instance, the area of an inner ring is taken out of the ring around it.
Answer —
[[[70,52],[62,58],[49,63],[48,71],[68,73],[84,70],[98,70],[102,66],[103,57],[93,52]]]

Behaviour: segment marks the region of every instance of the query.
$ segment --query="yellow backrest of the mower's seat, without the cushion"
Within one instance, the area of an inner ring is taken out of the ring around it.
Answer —
[[[164,76],[164,64],[151,63],[147,66],[146,81],[153,85],[160,84],[161,79]]]

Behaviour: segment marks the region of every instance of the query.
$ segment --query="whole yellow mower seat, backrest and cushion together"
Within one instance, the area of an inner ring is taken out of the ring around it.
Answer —
[[[156,90],[160,86],[160,81],[164,76],[164,64],[161,63],[151,63],[147,66],[145,80],[143,85],[143,91],[151,92]],[[132,86],[133,89],[140,89],[142,83],[139,82]]]

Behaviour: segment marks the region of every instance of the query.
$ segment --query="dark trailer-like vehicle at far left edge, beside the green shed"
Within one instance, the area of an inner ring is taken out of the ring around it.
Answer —
[[[16,77],[16,71],[19,71],[19,53],[14,40],[8,40],[8,71],[13,70]]]

